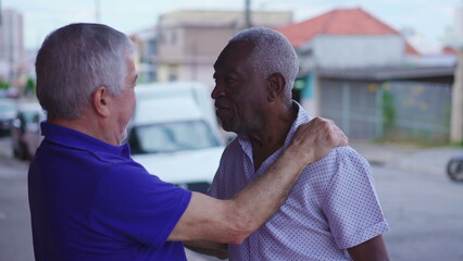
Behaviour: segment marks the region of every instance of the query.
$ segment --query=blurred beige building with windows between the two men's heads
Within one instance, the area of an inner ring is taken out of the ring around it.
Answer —
[[[213,64],[222,49],[245,28],[238,11],[178,11],[158,23],[158,80],[197,80],[214,87]],[[291,12],[253,12],[252,25],[277,27],[292,22]]]

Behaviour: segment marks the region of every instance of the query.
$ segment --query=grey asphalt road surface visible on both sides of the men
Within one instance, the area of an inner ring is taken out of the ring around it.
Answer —
[[[0,138],[0,261],[32,261],[27,163],[13,160]],[[429,153],[429,161],[434,158]],[[463,184],[441,175],[374,166],[379,200],[391,231],[392,260],[463,260]],[[215,260],[188,252],[189,261]]]

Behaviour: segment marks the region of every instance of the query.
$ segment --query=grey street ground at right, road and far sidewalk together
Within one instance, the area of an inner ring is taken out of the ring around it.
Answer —
[[[350,144],[373,166],[391,260],[462,261],[463,183],[451,182],[446,167],[463,147]]]

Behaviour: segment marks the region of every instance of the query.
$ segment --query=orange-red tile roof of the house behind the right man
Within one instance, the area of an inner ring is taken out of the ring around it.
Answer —
[[[299,47],[314,36],[323,35],[400,35],[399,32],[365,12],[361,8],[335,9],[316,17],[276,28],[292,46]],[[405,44],[408,53],[418,52]]]

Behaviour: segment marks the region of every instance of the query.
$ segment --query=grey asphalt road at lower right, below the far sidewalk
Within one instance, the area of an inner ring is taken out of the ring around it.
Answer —
[[[463,184],[445,175],[374,167],[376,188],[391,227],[391,260],[463,260]]]

